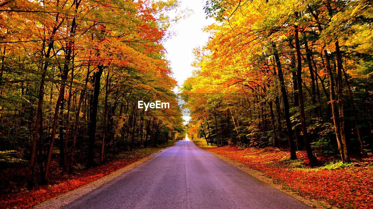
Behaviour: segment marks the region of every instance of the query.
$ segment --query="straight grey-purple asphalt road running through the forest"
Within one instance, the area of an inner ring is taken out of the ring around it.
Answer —
[[[179,141],[63,208],[311,209],[192,141]]]

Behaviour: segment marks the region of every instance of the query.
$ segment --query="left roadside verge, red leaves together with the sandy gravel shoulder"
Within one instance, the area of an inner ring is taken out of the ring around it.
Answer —
[[[45,203],[38,205],[36,208],[60,208],[107,181],[144,163],[164,149],[175,144],[175,142],[176,141],[168,141],[166,144],[158,147],[123,152],[117,155],[116,159],[106,164],[99,165],[89,170],[77,170],[75,174],[65,174],[62,179],[54,181],[49,185],[38,186],[32,190],[22,188],[19,192],[3,195],[0,197],[0,209],[31,208],[46,200]]]

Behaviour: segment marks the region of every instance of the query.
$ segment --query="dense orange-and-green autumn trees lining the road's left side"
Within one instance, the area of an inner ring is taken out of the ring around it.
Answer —
[[[0,4],[0,149],[28,161],[28,186],[52,169],[90,168],[182,132],[164,48],[176,1]],[[137,108],[162,100],[170,109]],[[57,157],[58,155],[58,157]],[[57,164],[59,163],[59,165]]]

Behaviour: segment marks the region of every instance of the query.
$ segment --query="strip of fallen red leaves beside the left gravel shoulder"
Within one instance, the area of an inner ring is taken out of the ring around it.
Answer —
[[[24,192],[4,195],[0,197],[0,208],[30,208],[47,199],[84,186],[126,165],[134,163],[136,160],[137,158],[112,161],[90,170],[84,170],[79,174],[68,174],[65,176],[65,180],[59,180],[53,185],[38,186],[30,191],[26,190]]]

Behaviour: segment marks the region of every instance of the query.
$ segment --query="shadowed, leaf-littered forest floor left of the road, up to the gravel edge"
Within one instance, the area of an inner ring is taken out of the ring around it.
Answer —
[[[19,186],[13,187],[12,190],[7,192],[3,192],[0,195],[0,209],[31,208],[32,206],[38,205],[48,199],[75,190],[78,187],[107,176],[120,168],[138,161],[142,157],[151,155],[166,147],[170,147],[175,142],[176,141],[168,141],[166,144],[159,145],[158,147],[122,152],[108,163],[89,170],[86,170],[83,167],[75,168],[76,170],[73,174],[63,172],[62,169],[54,169],[51,171],[52,179],[48,185],[35,186],[32,190],[27,190],[25,186]],[[57,162],[53,163],[56,164],[55,167],[58,167]],[[14,167],[13,172],[15,172],[15,169],[16,168]],[[11,171],[8,169],[6,172]]]

